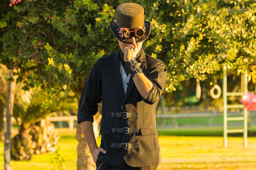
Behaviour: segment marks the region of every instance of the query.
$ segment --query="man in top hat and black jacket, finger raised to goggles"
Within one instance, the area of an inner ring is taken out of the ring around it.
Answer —
[[[120,4],[110,23],[120,50],[93,66],[79,102],[78,123],[97,169],[156,169],[160,150],[156,106],[163,93],[166,67],[141,48],[150,34],[143,7]],[[100,148],[93,135],[93,115],[102,102]]]

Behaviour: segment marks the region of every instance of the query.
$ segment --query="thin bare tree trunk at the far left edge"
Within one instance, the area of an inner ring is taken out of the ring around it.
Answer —
[[[4,138],[4,169],[11,170],[11,118],[13,113],[13,103],[15,94],[15,81],[12,81],[12,71],[9,71],[8,96],[6,101],[6,129]]]

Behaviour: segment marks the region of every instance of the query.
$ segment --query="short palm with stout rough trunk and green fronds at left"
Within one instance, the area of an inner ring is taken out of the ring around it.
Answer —
[[[77,110],[77,101],[70,90],[58,96],[49,97],[40,88],[23,92],[17,88],[13,117],[19,127],[19,133],[12,138],[11,157],[14,160],[30,160],[33,153],[53,152],[58,137],[54,125],[44,118],[52,112]],[[42,98],[47,101],[42,103]]]

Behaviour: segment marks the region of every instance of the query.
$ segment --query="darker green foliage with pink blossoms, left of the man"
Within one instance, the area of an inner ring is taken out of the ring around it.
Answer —
[[[17,69],[25,90],[58,94],[68,85],[79,96],[94,62],[118,49],[109,31],[114,14],[91,1],[22,2],[3,35],[1,62]]]

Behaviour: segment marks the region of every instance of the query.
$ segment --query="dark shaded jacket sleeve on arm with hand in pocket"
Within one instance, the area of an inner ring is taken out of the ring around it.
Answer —
[[[93,115],[98,111],[98,103],[102,99],[101,75],[99,60],[94,64],[90,71],[79,101],[77,124],[83,121],[92,121]]]

